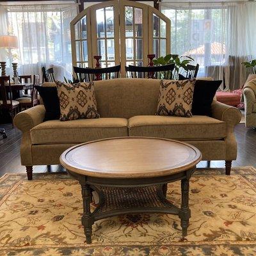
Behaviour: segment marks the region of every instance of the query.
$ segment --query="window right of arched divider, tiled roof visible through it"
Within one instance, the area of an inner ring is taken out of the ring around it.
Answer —
[[[173,8],[162,12],[171,20],[172,53],[191,56],[198,76],[214,76],[225,63],[227,8]]]

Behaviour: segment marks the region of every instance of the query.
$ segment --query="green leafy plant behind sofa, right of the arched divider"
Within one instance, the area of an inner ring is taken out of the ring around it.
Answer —
[[[193,58],[189,56],[180,56],[178,54],[168,54],[165,57],[161,56],[155,60],[153,60],[154,65],[161,66],[161,65],[168,65],[168,64],[175,64],[173,78],[177,78],[182,70],[186,70],[187,65],[194,61]]]

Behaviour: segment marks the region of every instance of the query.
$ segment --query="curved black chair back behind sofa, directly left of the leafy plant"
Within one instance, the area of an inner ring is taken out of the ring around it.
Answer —
[[[128,78],[152,78],[152,79],[172,79],[175,64],[168,64],[154,67],[140,67],[129,65],[125,67]]]

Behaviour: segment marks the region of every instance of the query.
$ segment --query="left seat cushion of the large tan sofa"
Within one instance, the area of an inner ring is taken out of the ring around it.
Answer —
[[[93,118],[61,122],[49,120],[30,130],[33,145],[83,143],[102,138],[128,136],[125,118]]]

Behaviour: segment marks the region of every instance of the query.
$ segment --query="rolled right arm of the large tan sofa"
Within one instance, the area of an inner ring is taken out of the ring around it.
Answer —
[[[239,109],[230,107],[226,104],[213,100],[212,102],[212,117],[223,122],[226,122],[228,126],[235,126],[241,121],[241,111]]]

